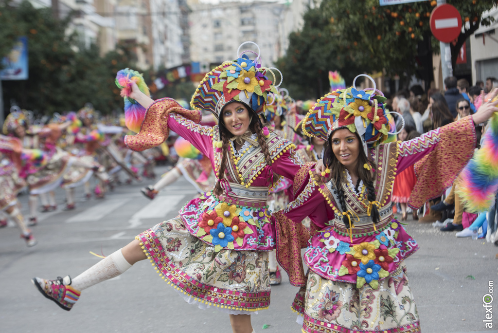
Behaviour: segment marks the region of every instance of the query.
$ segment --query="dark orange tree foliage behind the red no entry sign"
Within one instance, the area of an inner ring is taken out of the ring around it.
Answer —
[[[479,27],[489,25],[483,11],[497,0],[447,0],[467,22],[465,31],[451,44],[455,65],[463,42]],[[439,41],[430,32],[430,13],[436,1],[379,6],[378,0],[323,0],[304,14],[300,31],[289,36],[287,54],[277,66],[284,84],[296,99],[318,98],[327,92],[328,71],[338,70],[347,84],[359,73],[385,71],[410,77],[420,69],[419,42],[431,38],[433,51]],[[422,64],[423,65],[423,64]]]

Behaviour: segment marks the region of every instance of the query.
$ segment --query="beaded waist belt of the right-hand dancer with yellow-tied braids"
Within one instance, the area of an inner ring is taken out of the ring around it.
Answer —
[[[349,235],[351,230],[353,237],[364,236],[368,233],[379,233],[381,230],[385,229],[384,227],[386,227],[389,222],[391,222],[392,208],[390,206],[384,206],[379,209],[378,214],[380,221],[375,224],[375,228],[373,227],[372,216],[368,216],[367,213],[363,213],[358,215],[360,221],[357,221],[356,219],[353,221],[354,228],[352,228],[352,230],[349,228],[349,225],[344,225],[342,218],[338,218],[339,215],[336,215],[334,229],[337,233],[344,235]]]

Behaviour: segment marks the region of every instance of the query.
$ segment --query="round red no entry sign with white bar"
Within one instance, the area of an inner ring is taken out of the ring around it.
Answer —
[[[451,4],[442,4],[432,10],[431,31],[437,40],[449,43],[462,31],[462,16]]]

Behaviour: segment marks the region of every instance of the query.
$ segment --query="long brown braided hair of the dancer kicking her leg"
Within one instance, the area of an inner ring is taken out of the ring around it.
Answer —
[[[228,104],[233,103],[233,102],[238,102],[238,101],[231,101],[231,102],[225,104],[225,106],[227,106]],[[243,103],[243,102],[238,102],[238,103],[241,103],[242,105],[244,105],[244,107],[249,112],[249,116],[252,117],[250,124],[249,124],[249,130],[252,133],[256,133],[257,143],[259,144],[259,147],[261,147],[261,151],[263,152],[264,161],[266,162],[266,164],[268,166],[271,166],[271,164],[272,164],[271,155],[269,153],[268,145],[266,144],[266,140],[265,140],[263,133],[262,133],[263,131],[261,129],[261,120],[259,119],[256,112],[254,110],[252,110],[251,107],[249,107],[249,105],[247,105],[246,103]],[[223,113],[223,109],[220,112],[220,115],[222,115],[222,113]],[[222,144],[222,160],[221,160],[220,168],[219,168],[218,174],[217,174],[218,180],[216,181],[216,184],[215,184],[215,187],[213,190],[215,195],[221,195],[224,192],[223,187],[221,185],[221,181],[223,178],[225,178],[225,170],[227,168],[228,159],[231,158],[231,157],[229,157],[230,156],[229,155],[229,151],[230,151],[230,142],[229,142],[230,139],[229,138],[230,138],[230,136],[232,136],[230,131],[225,127],[225,122],[223,121],[223,117],[219,118],[218,126],[220,129],[220,137],[221,137],[223,144]],[[275,177],[275,174],[273,176]],[[269,180],[273,181],[273,179],[269,179]]]

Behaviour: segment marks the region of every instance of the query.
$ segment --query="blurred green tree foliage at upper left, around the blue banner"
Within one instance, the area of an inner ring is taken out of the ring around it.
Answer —
[[[130,45],[100,57],[96,45],[85,47],[76,33],[67,34],[71,17],[54,19],[50,8],[36,9],[28,1],[3,3],[0,12],[11,18],[6,31],[13,31],[4,34],[2,21],[0,45],[28,37],[29,79],[2,81],[6,110],[10,101],[40,114],[77,111],[87,102],[105,114],[123,108],[114,79],[119,69],[133,67]],[[0,56],[10,48],[0,46]]]

